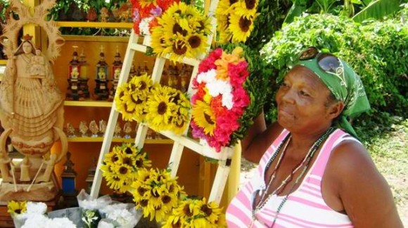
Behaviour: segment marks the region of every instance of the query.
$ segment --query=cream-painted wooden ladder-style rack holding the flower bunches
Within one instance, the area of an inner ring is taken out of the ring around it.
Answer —
[[[218,1],[211,1],[210,11],[208,13],[208,15],[212,18],[211,20],[212,34],[215,34],[216,20],[213,15],[215,15],[214,12],[215,12],[215,8],[217,7],[217,4],[218,4]],[[210,34],[210,36],[208,37],[209,44],[212,41],[212,34]],[[146,43],[139,44],[138,40],[139,40],[139,36],[137,34],[134,34],[134,32],[132,31],[132,34],[130,35],[130,38],[129,38],[129,43],[127,45],[127,50],[125,53],[125,59],[123,62],[122,71],[120,72],[120,79],[118,82],[119,85],[127,82],[135,52],[139,51],[141,53],[146,53],[148,46],[146,46]],[[146,41],[146,39],[144,39],[144,41]],[[204,56],[202,56],[201,58],[203,57]],[[163,71],[163,68],[165,67],[165,62],[167,59],[168,57],[164,57],[164,58],[160,57],[160,58],[155,59],[155,64],[154,64],[153,72],[151,75],[153,83],[160,82],[162,71]],[[200,64],[200,59],[183,58],[182,60],[179,60],[177,62],[181,62],[186,65],[193,66],[193,72],[192,72],[190,83],[189,83],[189,89],[187,91],[187,93],[191,96],[193,93],[192,81],[193,81],[194,76],[196,76],[198,72],[198,65]],[[99,154],[99,158],[98,158],[98,166],[96,168],[94,182],[91,187],[91,198],[92,199],[96,199],[98,197],[99,189],[101,188],[101,180],[102,180],[101,164],[103,162],[103,157],[110,150],[113,133],[114,133],[115,126],[117,123],[117,117],[119,115],[119,113],[115,110],[115,107],[116,107],[116,104],[115,104],[115,101],[113,101],[112,109],[110,109],[110,115],[108,119],[108,126],[106,128],[105,138],[103,138],[101,153]],[[136,131],[136,138],[134,139],[136,147],[139,147],[139,148],[144,147],[144,141],[146,139],[147,130],[148,130],[148,126],[145,123],[139,123],[139,127],[137,128],[137,131]],[[224,192],[224,187],[227,183],[229,170],[231,168],[230,166],[231,157],[234,154],[234,148],[224,147],[222,148],[221,152],[217,153],[215,152],[214,149],[200,145],[196,140],[193,140],[187,137],[186,136],[187,130],[188,129],[186,129],[186,131],[182,135],[175,135],[174,133],[169,132],[169,131],[159,132],[160,134],[165,135],[167,138],[170,138],[171,140],[174,141],[172,152],[170,155],[170,161],[168,163],[168,168],[170,168],[171,170],[171,175],[172,177],[175,177],[177,175],[177,170],[179,168],[181,154],[183,153],[184,147],[187,147],[191,149],[193,152],[197,152],[198,154],[201,154],[203,156],[209,157],[211,159],[216,159],[218,161],[218,168],[217,168],[217,173],[215,175],[215,180],[212,185],[212,189],[211,189],[208,201],[215,201],[219,203],[222,198],[222,193]]]

